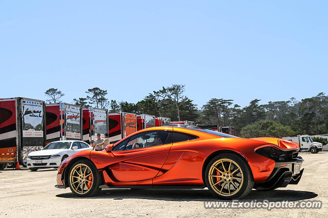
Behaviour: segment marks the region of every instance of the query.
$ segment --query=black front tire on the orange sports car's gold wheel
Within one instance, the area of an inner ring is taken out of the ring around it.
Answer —
[[[93,182],[90,185],[90,187],[87,186],[88,182],[86,182],[86,179],[90,179],[90,177],[75,178],[73,176],[73,175],[79,176],[79,172],[78,172],[79,169],[77,169],[77,171],[76,171],[76,169],[74,169],[75,167],[77,167],[79,165],[82,167],[80,170],[80,173],[84,173],[84,171],[86,170],[86,166],[89,167],[89,169],[87,169],[84,176],[89,175],[90,171],[92,172],[92,181]],[[74,179],[75,179],[75,181],[74,181]],[[77,180],[78,180],[78,182],[76,184],[74,184]],[[81,181],[81,182],[79,182],[79,181]],[[78,185],[79,183],[81,185]],[[99,184],[100,184],[99,172],[98,172],[96,166],[90,160],[78,160],[78,161],[74,162],[73,165],[70,167],[69,172],[68,172],[68,185],[75,196],[78,196],[78,197],[94,196],[101,190],[101,188],[99,188]],[[84,188],[88,188],[88,191],[84,190]],[[83,191],[85,191],[85,193],[83,193]]]

